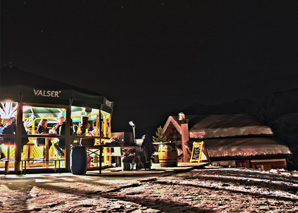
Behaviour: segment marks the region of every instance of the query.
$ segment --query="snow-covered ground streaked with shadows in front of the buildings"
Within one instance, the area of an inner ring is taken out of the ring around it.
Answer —
[[[114,173],[0,178],[0,212],[298,212],[296,172]]]

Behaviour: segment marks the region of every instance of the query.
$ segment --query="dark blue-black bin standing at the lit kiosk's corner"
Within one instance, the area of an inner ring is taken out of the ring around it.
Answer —
[[[72,174],[84,175],[87,172],[87,151],[84,146],[73,146],[70,153],[70,170]]]

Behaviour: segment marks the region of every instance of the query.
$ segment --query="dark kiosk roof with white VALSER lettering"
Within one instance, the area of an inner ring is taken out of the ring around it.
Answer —
[[[91,107],[112,112],[114,103],[101,94],[49,79],[13,66],[3,66],[0,101]]]

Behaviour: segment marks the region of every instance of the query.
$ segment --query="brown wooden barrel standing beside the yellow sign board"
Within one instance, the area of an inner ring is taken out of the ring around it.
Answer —
[[[175,143],[162,143],[158,147],[158,158],[160,166],[177,166],[178,153]]]

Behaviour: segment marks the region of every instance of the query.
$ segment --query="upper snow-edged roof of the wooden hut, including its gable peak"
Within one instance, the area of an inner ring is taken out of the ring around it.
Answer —
[[[225,138],[248,135],[273,135],[269,126],[262,125],[248,114],[187,115],[190,138]],[[163,128],[172,124],[181,134],[178,116],[169,116]]]

